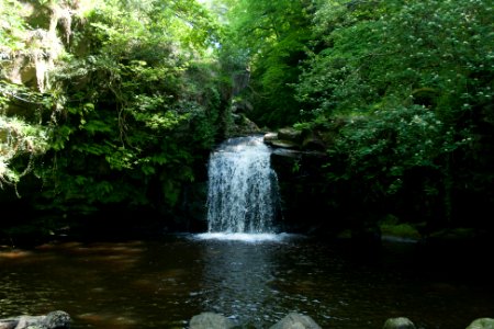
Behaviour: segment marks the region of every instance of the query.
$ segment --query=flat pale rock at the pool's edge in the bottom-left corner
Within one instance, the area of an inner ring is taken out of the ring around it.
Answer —
[[[68,329],[70,316],[63,310],[42,316],[20,316],[0,319],[0,329]]]

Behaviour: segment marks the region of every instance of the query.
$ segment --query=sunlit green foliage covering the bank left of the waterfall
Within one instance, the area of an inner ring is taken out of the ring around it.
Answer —
[[[29,22],[53,18],[22,15],[15,1],[0,4],[0,67],[12,68]],[[45,93],[1,81],[2,114],[18,99],[26,113],[41,109],[29,114],[37,125],[1,116],[1,181],[16,183],[19,169],[35,167],[43,192],[33,205],[74,215],[112,204],[175,207],[217,136],[218,25],[194,0],[80,1],[70,10],[71,25],[57,32],[66,34],[66,52]],[[45,33],[45,25],[35,27]],[[25,156],[41,157],[38,166]]]

